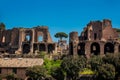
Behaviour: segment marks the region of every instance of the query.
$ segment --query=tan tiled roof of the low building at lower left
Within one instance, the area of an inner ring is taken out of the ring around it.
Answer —
[[[31,67],[42,65],[43,59],[41,58],[0,58],[0,67]]]

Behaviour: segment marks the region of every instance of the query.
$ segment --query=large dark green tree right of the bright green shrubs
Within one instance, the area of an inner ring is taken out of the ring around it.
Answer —
[[[65,57],[61,63],[61,67],[67,73],[67,78],[76,80],[81,71],[86,65],[86,59],[84,57]]]

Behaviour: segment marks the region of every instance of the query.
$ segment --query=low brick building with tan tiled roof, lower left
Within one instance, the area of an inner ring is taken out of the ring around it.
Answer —
[[[14,73],[17,78],[27,80],[26,68],[42,64],[40,58],[0,58],[0,75],[6,80],[6,75]]]

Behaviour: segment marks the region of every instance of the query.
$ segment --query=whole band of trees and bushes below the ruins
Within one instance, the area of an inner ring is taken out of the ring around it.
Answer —
[[[76,80],[79,75],[95,75],[97,80],[117,80],[120,76],[120,54],[106,54],[104,57],[93,55],[89,59],[84,56],[65,56],[61,59],[44,58],[42,68],[30,68],[29,76],[34,80],[40,79],[40,76],[52,80]]]

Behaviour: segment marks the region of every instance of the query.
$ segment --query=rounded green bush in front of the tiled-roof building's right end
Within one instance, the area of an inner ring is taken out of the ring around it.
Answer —
[[[29,76],[33,80],[43,80],[46,77],[46,69],[43,66],[33,66],[26,70],[26,76]]]

